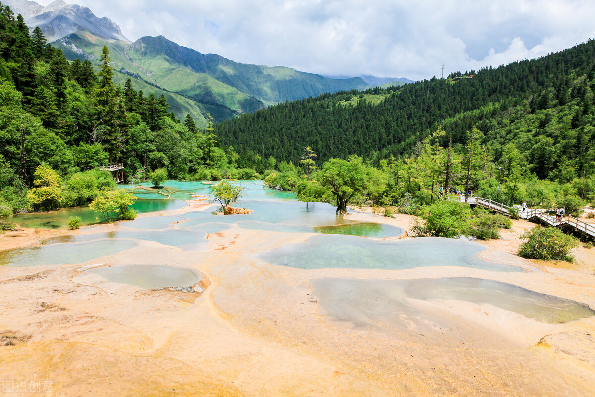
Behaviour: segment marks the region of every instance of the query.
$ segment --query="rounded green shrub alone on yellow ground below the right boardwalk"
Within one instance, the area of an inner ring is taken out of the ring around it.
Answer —
[[[572,262],[570,251],[578,246],[578,239],[565,235],[555,227],[535,227],[522,236],[527,239],[519,247],[518,255],[523,258],[562,260]]]

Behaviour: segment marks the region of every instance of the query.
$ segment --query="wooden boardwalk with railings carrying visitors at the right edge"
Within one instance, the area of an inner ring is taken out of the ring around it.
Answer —
[[[465,202],[465,195],[461,196],[452,196],[448,197],[451,201],[459,201],[464,203]],[[487,208],[488,210],[498,212],[500,214],[510,216],[509,207],[508,205],[504,205],[502,203],[493,201],[491,199],[486,199],[479,196],[468,196],[467,197],[467,204],[469,205],[481,205],[481,207]],[[532,218],[537,218],[543,223],[548,224],[549,226],[553,227],[571,227],[572,229],[576,230],[577,232],[584,233],[587,236],[590,236],[592,239],[595,239],[595,224],[586,223],[581,221],[577,218],[571,217],[570,215],[566,215],[565,217],[557,218],[552,215],[548,215],[544,210],[525,210],[525,212],[519,212],[519,217],[525,220],[531,220]]]

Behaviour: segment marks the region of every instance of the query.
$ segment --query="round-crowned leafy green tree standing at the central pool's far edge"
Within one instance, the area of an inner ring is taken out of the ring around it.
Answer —
[[[338,211],[347,211],[349,201],[368,187],[367,168],[361,157],[352,155],[349,160],[331,158],[317,173],[318,182],[334,195]]]

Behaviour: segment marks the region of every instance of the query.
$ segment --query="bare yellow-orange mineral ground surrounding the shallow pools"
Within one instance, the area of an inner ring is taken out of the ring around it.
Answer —
[[[197,208],[203,205],[175,212]],[[407,215],[352,216],[411,222]],[[484,258],[524,273],[300,270],[252,254],[309,235],[239,228],[209,236],[206,252],[141,242],[85,264],[0,267],[2,395],[592,396],[595,317],[546,324],[487,304],[414,302],[423,317],[362,327],[325,314],[312,287],[328,277],[468,276],[595,308],[595,248],[579,248],[571,265],[518,258],[518,236],[532,226],[515,221],[503,239],[482,242]],[[41,234],[57,233],[65,232]],[[32,231],[0,237],[0,249],[38,243]],[[184,266],[203,275],[206,289],[142,290],[80,271],[98,264]]]

